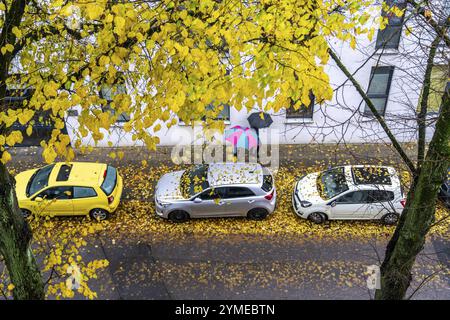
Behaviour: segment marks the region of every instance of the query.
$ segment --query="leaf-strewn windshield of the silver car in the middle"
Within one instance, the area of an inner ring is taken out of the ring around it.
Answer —
[[[209,188],[207,164],[193,166],[183,172],[181,176],[181,193],[185,199]]]

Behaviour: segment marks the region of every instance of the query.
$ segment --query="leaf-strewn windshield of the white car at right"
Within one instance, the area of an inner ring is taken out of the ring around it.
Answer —
[[[317,177],[317,190],[322,199],[328,200],[348,190],[344,168],[324,171]]]

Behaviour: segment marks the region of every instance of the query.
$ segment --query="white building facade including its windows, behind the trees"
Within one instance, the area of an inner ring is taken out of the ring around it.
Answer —
[[[406,5],[404,0],[390,2],[395,2],[398,6]],[[390,18],[386,29],[379,30],[372,41],[362,37],[357,42],[356,49],[351,49],[347,43],[342,42],[330,42],[330,46],[366,90],[397,139],[410,142],[417,139],[415,119],[427,54],[423,45],[421,50],[417,49],[419,45],[415,37],[407,36],[405,24],[404,18]],[[427,42],[426,39],[423,41]],[[442,65],[438,63],[438,67],[448,71],[446,55],[438,54],[437,60],[439,59]],[[388,141],[360,94],[331,59],[326,71],[334,89],[332,101],[322,105],[312,104],[297,111],[290,108],[277,113],[266,110],[273,123],[269,128],[260,130],[263,144]],[[247,117],[251,112],[258,111],[258,107],[248,112],[245,109],[238,111],[232,106],[226,106],[221,113],[221,119],[217,121],[224,121],[227,128],[236,125],[248,127]],[[120,117],[110,132],[104,132],[104,139],[97,146],[142,144],[140,141],[133,141],[131,134],[123,130],[125,121],[126,116]],[[75,139],[78,128],[76,111],[67,115],[66,124],[69,135]],[[180,121],[170,128],[164,123],[161,125],[162,129],[155,133],[159,137],[160,145],[203,143],[201,123],[190,126]],[[429,131],[428,135],[432,130]],[[88,136],[82,140],[82,144],[93,144],[93,140]]]

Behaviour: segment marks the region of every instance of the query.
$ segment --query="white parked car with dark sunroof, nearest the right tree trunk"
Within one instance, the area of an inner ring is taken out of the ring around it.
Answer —
[[[295,213],[315,223],[379,219],[395,224],[405,200],[394,168],[342,166],[302,177],[292,194]]]

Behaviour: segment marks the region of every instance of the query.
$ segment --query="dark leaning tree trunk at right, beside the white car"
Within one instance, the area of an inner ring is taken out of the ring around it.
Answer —
[[[386,249],[381,266],[381,289],[376,299],[403,299],[411,282],[416,256],[423,249],[425,236],[434,221],[437,195],[450,165],[450,82],[442,100],[427,156],[417,183],[408,193],[399,226]]]

